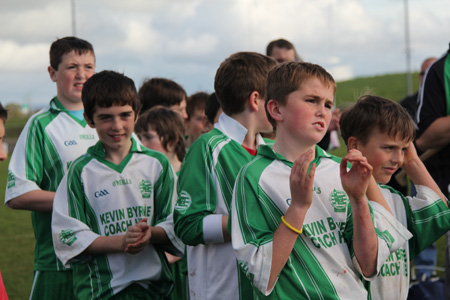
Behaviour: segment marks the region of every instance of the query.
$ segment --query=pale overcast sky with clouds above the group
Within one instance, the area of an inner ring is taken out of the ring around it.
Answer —
[[[285,38],[337,81],[406,72],[403,0],[74,0],[75,32],[97,71],[139,88],[167,77],[188,94],[213,91],[219,64]],[[450,42],[450,1],[409,0],[411,68]],[[0,101],[44,106],[55,96],[50,44],[72,35],[71,0],[0,0]],[[338,86],[339,88],[339,86]]]

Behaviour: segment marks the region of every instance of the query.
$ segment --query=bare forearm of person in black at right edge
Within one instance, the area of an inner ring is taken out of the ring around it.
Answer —
[[[422,151],[442,147],[450,142],[450,116],[436,119],[416,140],[416,146]]]

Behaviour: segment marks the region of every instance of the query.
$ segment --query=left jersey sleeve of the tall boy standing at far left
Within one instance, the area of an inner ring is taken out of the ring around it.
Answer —
[[[44,174],[43,131],[35,117],[28,120],[22,130],[8,167],[6,205],[13,198],[40,189]]]

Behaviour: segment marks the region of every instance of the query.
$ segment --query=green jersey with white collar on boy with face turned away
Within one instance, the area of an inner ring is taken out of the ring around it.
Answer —
[[[174,220],[175,232],[189,245],[191,299],[252,299],[231,242],[224,243],[222,235],[236,176],[254,158],[241,146],[246,134],[244,126],[222,113],[215,128],[191,145],[181,167]],[[264,143],[259,135],[257,143]]]

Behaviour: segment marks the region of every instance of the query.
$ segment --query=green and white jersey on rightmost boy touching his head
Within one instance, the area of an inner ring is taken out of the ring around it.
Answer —
[[[386,185],[380,188],[395,218],[413,237],[389,256],[371,282],[372,299],[407,299],[410,259],[450,230],[450,210],[439,195],[426,186],[417,185],[415,197],[405,197]],[[376,210],[375,205],[373,209]]]

